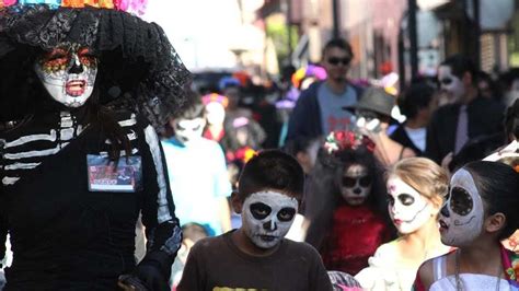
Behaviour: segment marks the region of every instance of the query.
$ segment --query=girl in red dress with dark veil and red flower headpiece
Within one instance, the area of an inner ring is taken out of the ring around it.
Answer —
[[[391,238],[373,147],[366,136],[333,131],[310,173],[305,241],[320,251],[328,270],[356,275],[368,266],[377,247]]]

